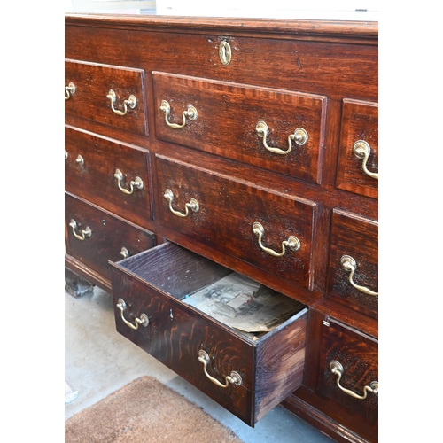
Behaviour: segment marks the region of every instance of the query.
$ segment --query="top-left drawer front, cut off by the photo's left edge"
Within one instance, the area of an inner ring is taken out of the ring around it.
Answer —
[[[65,113],[148,134],[143,69],[66,59],[65,83],[65,87],[72,83],[75,89],[69,98],[65,90]],[[111,91],[114,100],[110,98]]]

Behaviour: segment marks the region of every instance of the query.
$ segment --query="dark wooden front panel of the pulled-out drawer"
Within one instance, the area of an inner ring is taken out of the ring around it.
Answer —
[[[134,322],[134,318],[142,313],[150,318],[146,328],[132,330],[122,322],[120,310],[115,308],[115,322],[120,334],[205,392],[223,408],[252,424],[252,352],[244,341],[233,340],[226,330],[203,317],[199,318],[174,299],[166,299],[164,294],[159,295],[155,289],[132,277],[113,272],[112,285],[114,306],[120,297],[125,300],[128,321]],[[226,389],[214,385],[205,376],[203,365],[198,361],[200,348],[210,356],[217,356],[215,367],[211,365],[208,369],[213,377],[222,383],[224,375],[236,370],[244,385],[229,385]]]

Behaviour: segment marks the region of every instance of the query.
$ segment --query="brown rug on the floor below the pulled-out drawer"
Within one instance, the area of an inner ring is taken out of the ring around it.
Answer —
[[[152,377],[136,378],[65,422],[65,443],[242,443],[233,431]]]

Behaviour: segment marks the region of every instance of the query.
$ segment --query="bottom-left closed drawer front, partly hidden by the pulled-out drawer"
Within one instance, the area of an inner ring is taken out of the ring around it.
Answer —
[[[73,220],[75,229],[70,225]],[[107,280],[110,280],[108,260],[121,260],[122,248],[133,255],[152,248],[155,241],[152,232],[131,225],[68,193],[65,194],[65,223],[66,253]],[[75,237],[74,232],[84,239]]]

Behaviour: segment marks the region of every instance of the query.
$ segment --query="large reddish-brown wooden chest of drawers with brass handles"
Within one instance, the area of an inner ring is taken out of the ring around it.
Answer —
[[[253,426],[377,441],[377,23],[66,15],[66,267]],[[236,273],[258,339],[183,298]]]

